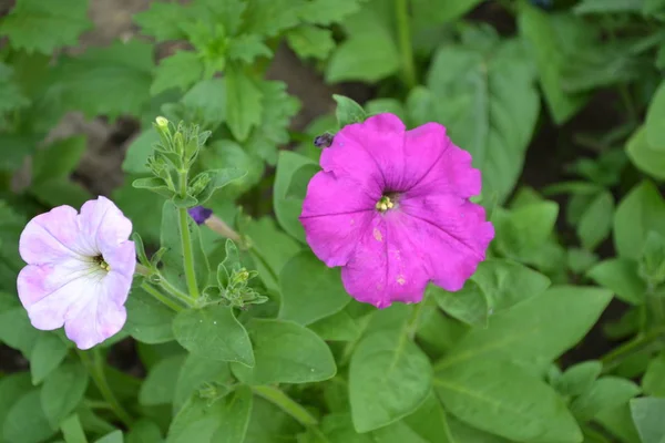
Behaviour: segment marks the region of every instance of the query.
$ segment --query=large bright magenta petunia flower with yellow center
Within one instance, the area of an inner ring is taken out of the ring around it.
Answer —
[[[469,200],[480,172],[440,124],[406,131],[396,115],[372,116],[337,133],[320,165],[300,222],[358,301],[418,302],[429,281],[457,291],[484,260],[494,228]]]

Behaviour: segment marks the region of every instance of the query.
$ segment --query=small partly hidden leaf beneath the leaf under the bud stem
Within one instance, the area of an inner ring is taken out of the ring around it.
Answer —
[[[175,382],[173,396],[174,411],[180,411],[190,395],[206,383],[222,383],[231,377],[228,363],[211,360],[197,354],[188,354]]]

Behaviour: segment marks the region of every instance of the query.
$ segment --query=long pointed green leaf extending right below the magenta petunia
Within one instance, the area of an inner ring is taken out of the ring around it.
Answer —
[[[487,329],[471,330],[437,368],[505,358],[542,372],[586,334],[611,299],[604,289],[551,287],[490,317]]]

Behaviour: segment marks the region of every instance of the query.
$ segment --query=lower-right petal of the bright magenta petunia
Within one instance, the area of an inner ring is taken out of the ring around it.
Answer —
[[[405,196],[399,210],[410,218],[406,230],[427,257],[429,277],[446,290],[460,290],[494,237],[484,208],[459,197],[430,195]]]

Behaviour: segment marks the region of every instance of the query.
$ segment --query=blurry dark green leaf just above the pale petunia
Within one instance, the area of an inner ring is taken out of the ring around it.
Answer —
[[[32,183],[53,178],[68,178],[85,152],[85,137],[75,136],[58,141],[32,157]]]

